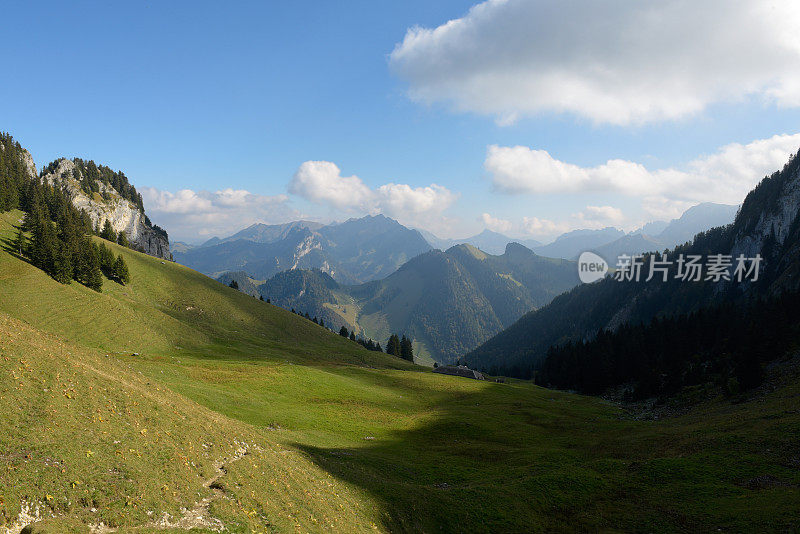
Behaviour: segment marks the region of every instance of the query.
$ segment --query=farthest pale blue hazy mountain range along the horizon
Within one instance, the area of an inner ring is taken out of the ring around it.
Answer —
[[[383,215],[323,225],[312,221],[254,224],[225,238],[213,237],[199,246],[173,244],[176,261],[209,276],[245,271],[265,280],[288,269],[320,269],[341,284],[379,280],[414,256],[431,249],[448,250],[469,244],[502,255],[509,243],[520,243],[539,256],[576,259],[586,250],[614,265],[620,254],[640,254],[671,248],[695,234],[728,224],[736,206],[699,204],[671,222],[657,221],[626,234],[617,228],[574,230],[542,245],[484,230],[464,239],[442,239],[425,230],[407,228]]]

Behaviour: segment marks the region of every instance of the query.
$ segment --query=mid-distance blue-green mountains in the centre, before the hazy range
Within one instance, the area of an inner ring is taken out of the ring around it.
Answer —
[[[228,273],[221,281],[232,278]],[[251,288],[245,273],[236,279],[240,289]],[[294,269],[257,291],[334,330],[345,326],[381,343],[392,333],[405,334],[420,361],[445,363],[577,283],[573,262],[543,258],[510,243],[502,255],[472,245],[431,250],[381,280],[353,286],[318,269]]]

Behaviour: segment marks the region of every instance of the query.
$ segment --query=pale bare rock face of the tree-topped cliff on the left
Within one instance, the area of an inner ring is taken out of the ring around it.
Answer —
[[[99,193],[87,194],[80,186],[81,170],[73,161],[58,160],[55,170],[42,178],[51,185],[64,187],[75,207],[85,210],[95,227],[103,228],[109,221],[115,232],[125,232],[133,248],[172,260],[166,232],[150,224],[144,212],[101,180],[97,180]]]

